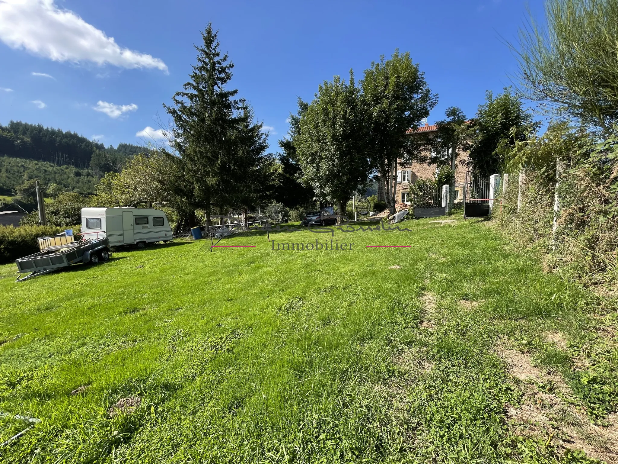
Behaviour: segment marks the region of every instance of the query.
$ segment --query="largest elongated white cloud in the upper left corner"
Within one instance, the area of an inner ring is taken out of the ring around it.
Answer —
[[[121,48],[113,37],[57,7],[54,0],[0,0],[0,40],[53,61],[90,61],[167,73],[161,59]]]

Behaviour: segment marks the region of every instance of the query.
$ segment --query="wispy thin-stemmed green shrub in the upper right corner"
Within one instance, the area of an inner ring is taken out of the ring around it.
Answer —
[[[520,31],[519,78],[526,98],[604,137],[618,123],[618,3],[548,0],[547,25]]]

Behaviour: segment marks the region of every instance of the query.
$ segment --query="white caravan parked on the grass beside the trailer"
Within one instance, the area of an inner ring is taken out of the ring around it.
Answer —
[[[107,237],[109,246],[144,247],[172,239],[165,213],[151,208],[82,208],[82,233],[92,238]]]

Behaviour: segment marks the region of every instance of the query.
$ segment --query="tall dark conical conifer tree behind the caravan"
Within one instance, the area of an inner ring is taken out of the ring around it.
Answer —
[[[261,124],[254,124],[246,101],[235,98],[238,90],[226,90],[234,64],[221,55],[212,24],[196,49],[190,80],[165,108],[174,119],[182,197],[193,210],[203,209],[210,225],[213,205],[221,211],[249,207],[268,196],[270,160]]]

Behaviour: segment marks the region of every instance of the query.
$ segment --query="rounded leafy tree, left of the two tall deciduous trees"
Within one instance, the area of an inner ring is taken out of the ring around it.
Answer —
[[[366,144],[366,118],[359,89],[339,76],[320,85],[300,119],[294,146],[302,168],[302,184],[318,198],[345,211],[348,199],[368,182],[370,164]]]

